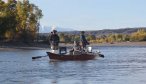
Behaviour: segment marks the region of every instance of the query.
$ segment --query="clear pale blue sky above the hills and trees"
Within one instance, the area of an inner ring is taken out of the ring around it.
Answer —
[[[43,11],[41,25],[101,30],[146,27],[146,0],[29,0]]]

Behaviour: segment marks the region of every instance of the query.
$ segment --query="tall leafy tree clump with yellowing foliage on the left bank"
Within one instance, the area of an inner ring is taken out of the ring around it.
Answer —
[[[42,16],[42,10],[29,0],[0,0],[0,40],[34,41]]]

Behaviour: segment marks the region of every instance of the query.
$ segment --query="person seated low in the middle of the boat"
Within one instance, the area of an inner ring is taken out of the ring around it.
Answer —
[[[82,49],[81,49],[80,43],[77,41],[74,41],[74,46],[73,46],[72,50],[70,50],[70,54],[79,55],[79,54],[81,54],[81,52],[82,52]]]

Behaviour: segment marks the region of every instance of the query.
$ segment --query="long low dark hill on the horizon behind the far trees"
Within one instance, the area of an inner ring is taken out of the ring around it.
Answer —
[[[131,34],[136,32],[138,29],[144,29],[146,31],[146,27],[137,27],[137,28],[121,28],[121,29],[104,29],[104,30],[92,30],[92,31],[85,31],[86,34],[93,34],[93,35],[108,35],[108,34]],[[60,31],[59,33],[65,34],[80,34],[80,31]],[[41,33],[41,35],[48,35],[48,33]]]

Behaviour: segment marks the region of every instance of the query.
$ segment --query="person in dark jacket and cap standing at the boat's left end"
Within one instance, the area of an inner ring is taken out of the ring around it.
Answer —
[[[50,44],[51,44],[51,49],[52,50],[57,50],[59,47],[59,42],[60,42],[60,38],[57,34],[56,30],[53,30],[51,32],[51,36],[50,36]]]

